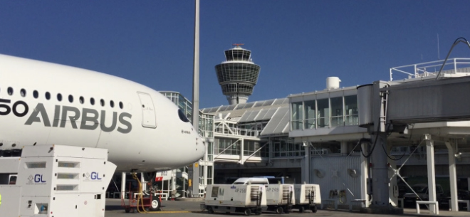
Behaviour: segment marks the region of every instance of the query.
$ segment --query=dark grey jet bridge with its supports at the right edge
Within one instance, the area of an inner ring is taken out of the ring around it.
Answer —
[[[387,152],[376,146],[387,147],[387,134],[404,133],[409,125],[425,122],[470,120],[470,76],[460,78],[429,79],[413,83],[377,81],[357,88],[360,127],[367,127],[372,135],[372,198],[371,208],[389,207]],[[470,132],[469,132],[470,134]],[[460,137],[462,137],[460,135]],[[427,145],[429,201],[437,201],[434,175],[434,141],[442,141],[449,149],[451,177],[451,208],[457,211],[456,201],[456,145],[451,137],[425,134]],[[395,170],[395,174],[399,170]],[[397,174],[399,176],[399,174]],[[431,205],[432,211],[434,206]],[[383,211],[382,211],[383,212]]]

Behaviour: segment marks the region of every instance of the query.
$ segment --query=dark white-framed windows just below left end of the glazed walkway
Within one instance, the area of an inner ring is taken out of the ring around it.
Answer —
[[[288,137],[273,139],[273,157],[303,157],[303,144]]]

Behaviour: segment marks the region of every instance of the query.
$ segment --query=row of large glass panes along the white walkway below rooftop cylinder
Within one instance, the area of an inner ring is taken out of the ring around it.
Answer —
[[[357,95],[291,102],[291,129],[359,125]]]

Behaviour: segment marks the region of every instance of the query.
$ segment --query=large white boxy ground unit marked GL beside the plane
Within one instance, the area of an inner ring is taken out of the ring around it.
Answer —
[[[105,216],[116,169],[107,149],[36,145],[0,158],[1,217]],[[16,182],[5,177],[16,175]]]

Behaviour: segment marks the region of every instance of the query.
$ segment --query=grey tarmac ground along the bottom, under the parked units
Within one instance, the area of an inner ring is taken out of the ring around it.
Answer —
[[[204,201],[162,201],[161,211],[156,213],[125,213],[124,208],[122,208],[120,199],[106,199],[106,210],[105,216],[107,217],[125,217],[125,216],[135,216],[135,215],[145,215],[145,216],[184,216],[184,217],[195,217],[195,216],[244,216],[242,213],[213,213],[209,214],[207,211],[202,211],[200,204]],[[422,208],[420,214],[417,214],[416,208],[404,208],[403,214],[399,215],[390,215],[390,214],[370,214],[370,213],[360,213],[359,210],[349,211],[348,209],[323,209],[318,210],[316,213],[311,211],[305,211],[305,213],[299,213],[297,210],[293,210],[291,213],[277,214],[273,212],[263,212],[261,216],[331,216],[331,217],[363,217],[363,216],[436,216],[429,212],[429,210]],[[253,215],[254,216],[254,215]],[[448,210],[439,210],[439,216],[470,216],[469,211],[448,211]]]

